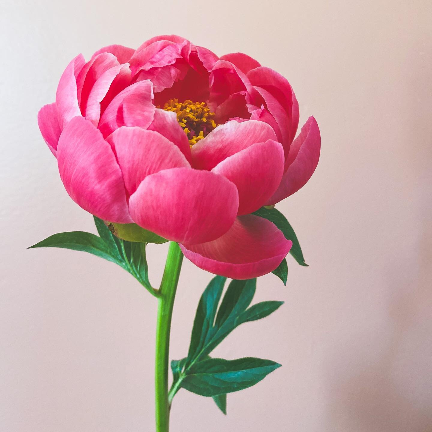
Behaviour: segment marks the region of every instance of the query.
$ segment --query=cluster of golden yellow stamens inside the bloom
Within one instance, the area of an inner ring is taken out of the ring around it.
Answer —
[[[162,109],[177,114],[178,124],[186,133],[191,147],[217,126],[213,120],[215,113],[210,111],[205,102],[192,102],[188,99],[178,102],[178,99],[170,99]]]

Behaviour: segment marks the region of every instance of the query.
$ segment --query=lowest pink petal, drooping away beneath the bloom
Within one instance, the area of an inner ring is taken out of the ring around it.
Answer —
[[[273,271],[286,257],[292,241],[267,219],[238,216],[226,234],[201,245],[181,245],[198,267],[232,279],[251,279]]]

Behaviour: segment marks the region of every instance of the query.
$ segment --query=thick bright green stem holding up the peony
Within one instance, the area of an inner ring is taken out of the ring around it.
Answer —
[[[172,308],[174,306],[175,291],[181,270],[183,254],[174,241],[169,245],[165,270],[159,288],[158,318],[156,324],[156,432],[169,430],[169,401],[168,401],[168,355],[169,334],[171,330]]]

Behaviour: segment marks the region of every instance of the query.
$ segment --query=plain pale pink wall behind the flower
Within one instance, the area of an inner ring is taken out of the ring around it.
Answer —
[[[114,264],[25,247],[90,230],[36,125],[79,52],[178,33],[217,54],[244,51],[286,76],[313,114],[322,156],[278,208],[310,267],[217,354],[283,363],[254,388],[181,391],[172,432],[432,431],[431,2],[3,0],[1,58],[0,430],[151,432],[156,301]],[[151,278],[166,245],[150,246]],[[186,353],[210,274],[184,263],[172,358]]]

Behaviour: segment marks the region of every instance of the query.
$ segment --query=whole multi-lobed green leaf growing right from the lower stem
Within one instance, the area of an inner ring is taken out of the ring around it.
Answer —
[[[226,393],[250,387],[280,366],[270,360],[210,358],[211,351],[235,327],[264,318],[283,303],[261,302],[248,308],[257,283],[256,279],[250,279],[232,280],[219,305],[225,280],[221,276],[214,277],[201,296],[188,356],[172,362],[174,380],[169,392],[170,402],[180,388],[185,388],[214,397],[215,403],[226,413]]]

